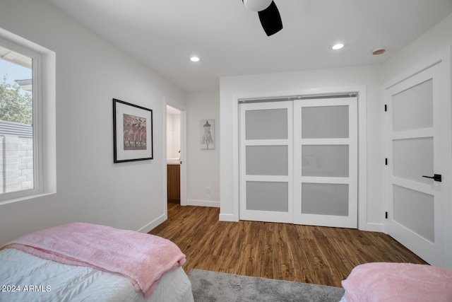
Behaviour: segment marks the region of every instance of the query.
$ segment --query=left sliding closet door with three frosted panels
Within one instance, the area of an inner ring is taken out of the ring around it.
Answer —
[[[240,219],[292,223],[292,102],[240,105]]]

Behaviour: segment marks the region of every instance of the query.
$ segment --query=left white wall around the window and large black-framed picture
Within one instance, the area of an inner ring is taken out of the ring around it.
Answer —
[[[0,205],[0,245],[71,221],[148,231],[165,219],[165,98],[185,95],[42,0],[1,1],[0,28],[57,57],[57,193]],[[154,160],[113,163],[112,98],[153,110]]]

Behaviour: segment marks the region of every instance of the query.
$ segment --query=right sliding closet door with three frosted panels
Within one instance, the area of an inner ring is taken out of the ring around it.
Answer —
[[[294,223],[357,228],[357,98],[294,102]]]

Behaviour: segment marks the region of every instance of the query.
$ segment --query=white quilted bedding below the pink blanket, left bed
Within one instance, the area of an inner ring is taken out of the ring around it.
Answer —
[[[182,267],[163,275],[147,299],[129,279],[90,267],[45,260],[20,250],[0,251],[0,301],[193,302]]]

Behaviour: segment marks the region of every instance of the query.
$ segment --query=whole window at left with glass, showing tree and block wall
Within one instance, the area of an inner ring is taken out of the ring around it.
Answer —
[[[0,28],[0,202],[55,191],[52,90],[54,53]]]

